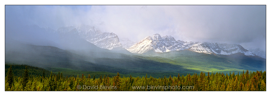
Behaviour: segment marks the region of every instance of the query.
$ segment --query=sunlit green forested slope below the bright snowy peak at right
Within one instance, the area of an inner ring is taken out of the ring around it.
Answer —
[[[170,51],[164,53],[149,52],[144,55],[149,60],[180,65],[184,69],[203,72],[226,72],[243,70],[266,70],[266,61],[259,57],[249,57],[240,54],[214,55],[193,51]],[[238,56],[238,57],[236,57]]]

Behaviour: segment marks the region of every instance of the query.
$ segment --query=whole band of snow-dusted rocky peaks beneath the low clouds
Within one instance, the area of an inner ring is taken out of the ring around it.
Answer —
[[[120,40],[115,33],[101,32],[101,30],[95,28],[95,26],[88,25],[65,26],[60,27],[57,30],[53,30],[50,28],[39,28],[38,26],[28,26],[28,27],[33,27],[35,28],[34,30],[44,30],[39,33],[52,33],[54,34],[54,36],[61,37],[61,39],[63,38],[83,39],[104,49],[112,50],[114,48],[115,50],[116,48],[123,47],[131,53],[143,54],[148,51],[169,52],[169,51],[189,50],[205,54],[223,54],[223,55],[235,54],[240,52],[247,56],[260,56],[266,58],[265,55],[266,52],[260,51],[259,49],[256,50],[253,48],[250,48],[251,51],[248,51],[247,49],[243,48],[241,45],[238,44],[223,44],[217,42],[185,42],[181,40],[175,40],[174,37],[172,36],[161,37],[159,34],[147,36],[141,41],[136,43],[132,42],[129,39]],[[72,41],[74,41],[74,39],[70,40],[70,42]],[[55,45],[57,46],[59,44],[62,44],[63,42],[58,42],[58,44]]]

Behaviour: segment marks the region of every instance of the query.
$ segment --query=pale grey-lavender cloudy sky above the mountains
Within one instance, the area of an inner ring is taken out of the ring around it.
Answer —
[[[266,50],[265,5],[5,5],[5,26],[90,25],[138,42],[146,36]]]

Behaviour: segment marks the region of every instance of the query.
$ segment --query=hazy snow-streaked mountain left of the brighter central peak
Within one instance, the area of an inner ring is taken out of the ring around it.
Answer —
[[[67,26],[60,27],[58,29],[60,33],[69,33],[79,36],[82,39],[85,39],[88,42],[93,43],[94,45],[105,48],[113,49],[115,47],[121,47],[119,38],[114,33],[103,33],[99,29],[96,29],[94,26]]]

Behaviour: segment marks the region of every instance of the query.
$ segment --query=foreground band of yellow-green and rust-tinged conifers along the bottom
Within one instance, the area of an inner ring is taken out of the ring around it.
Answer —
[[[145,88],[135,88],[145,86]],[[160,86],[148,88],[147,86]],[[161,86],[180,86],[162,88]],[[183,88],[193,86],[193,88]],[[181,88],[181,89],[179,89]],[[77,75],[63,76],[62,73],[45,76],[29,76],[25,67],[21,76],[14,76],[12,67],[8,68],[5,76],[5,91],[266,91],[266,71],[241,73],[194,73],[186,76],[169,76],[164,78],[114,77]]]

